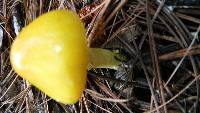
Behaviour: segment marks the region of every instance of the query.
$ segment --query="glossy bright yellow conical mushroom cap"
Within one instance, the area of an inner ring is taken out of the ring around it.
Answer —
[[[49,97],[74,104],[86,85],[88,48],[83,23],[69,10],[38,17],[14,40],[10,60],[21,77]]]

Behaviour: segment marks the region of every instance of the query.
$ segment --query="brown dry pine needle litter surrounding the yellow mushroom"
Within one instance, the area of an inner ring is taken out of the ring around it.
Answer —
[[[0,113],[199,113],[200,2],[183,1],[1,0]],[[89,47],[128,58],[117,70],[89,70],[74,105],[19,77],[9,59],[21,29],[55,9],[80,16]]]

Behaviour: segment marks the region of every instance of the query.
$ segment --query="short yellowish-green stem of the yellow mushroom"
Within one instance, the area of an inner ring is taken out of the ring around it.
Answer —
[[[117,51],[111,51],[102,48],[89,48],[88,69],[110,68],[117,70],[119,65],[124,60],[126,60],[126,57],[119,54]]]

